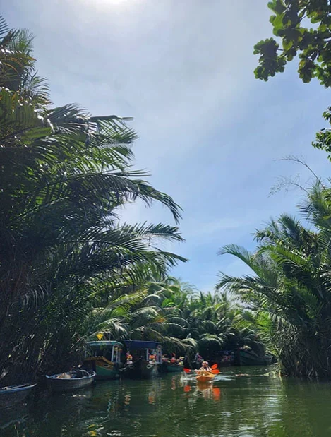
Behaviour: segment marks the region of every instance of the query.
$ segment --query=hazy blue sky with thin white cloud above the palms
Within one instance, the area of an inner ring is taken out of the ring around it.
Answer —
[[[281,160],[303,158],[323,179],[331,163],[313,149],[330,91],[303,84],[296,65],[256,80],[253,45],[272,36],[265,0],[11,0],[1,14],[35,35],[40,76],[56,105],[132,116],[136,168],[183,208],[186,239],[164,249],[189,259],[171,275],[203,291],[220,271],[247,273],[229,243],[254,249],[255,229],[296,213],[298,191],[270,196],[279,177],[309,174]],[[174,224],[158,205],[130,205],[128,222]]]

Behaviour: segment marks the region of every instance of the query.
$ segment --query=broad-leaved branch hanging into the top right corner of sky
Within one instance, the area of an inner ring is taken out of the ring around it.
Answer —
[[[331,4],[328,0],[272,0],[268,7],[274,35],[255,44],[259,54],[255,77],[268,80],[299,56],[303,82],[318,78],[331,86]]]

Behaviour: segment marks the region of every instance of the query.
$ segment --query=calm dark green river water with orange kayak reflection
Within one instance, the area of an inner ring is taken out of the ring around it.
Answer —
[[[250,376],[236,376],[239,372]],[[76,394],[39,393],[0,410],[1,437],[331,436],[331,383],[222,369],[211,386],[168,374],[104,381]]]

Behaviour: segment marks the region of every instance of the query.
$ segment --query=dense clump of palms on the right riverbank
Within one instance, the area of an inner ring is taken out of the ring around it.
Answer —
[[[255,235],[248,253],[226,246],[252,275],[222,275],[219,287],[246,301],[251,321],[279,357],[284,373],[331,376],[331,188],[311,188],[299,208],[311,228],[282,215]]]

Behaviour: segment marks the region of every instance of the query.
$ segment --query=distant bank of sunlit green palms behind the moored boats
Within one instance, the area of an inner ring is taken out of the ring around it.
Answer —
[[[114,304],[115,311],[112,310]],[[264,347],[252,330],[249,318],[243,317],[245,313],[246,310],[227,294],[203,294],[167,277],[164,281],[152,280],[140,292],[94,310],[85,326],[93,327],[91,340],[96,340],[100,333],[109,340],[127,337],[159,340],[167,353],[190,355],[191,352],[192,355],[199,351],[205,359],[215,358],[219,351],[243,346],[263,354]]]

